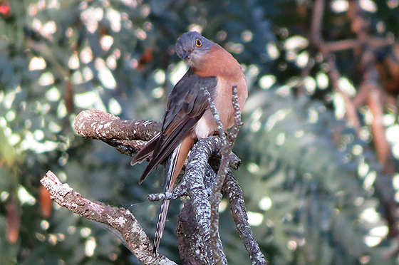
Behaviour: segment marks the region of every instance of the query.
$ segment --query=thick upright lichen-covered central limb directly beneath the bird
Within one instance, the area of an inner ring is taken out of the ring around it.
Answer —
[[[214,157],[214,154],[218,154],[221,148],[222,140],[218,136],[199,140],[188,157],[186,173],[180,185],[172,192],[172,195],[175,192],[187,192],[190,197],[180,212],[176,229],[180,256],[184,264],[217,264],[213,260],[210,244],[210,199],[216,174],[207,161],[219,161],[219,157]],[[218,168],[218,165],[216,167]],[[220,241],[219,234],[217,240]]]

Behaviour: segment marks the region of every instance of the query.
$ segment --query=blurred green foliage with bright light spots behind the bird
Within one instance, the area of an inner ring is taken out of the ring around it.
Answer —
[[[334,6],[347,2],[327,2],[323,38],[353,37],[345,9]],[[398,1],[363,2],[375,6],[375,35],[396,37]],[[39,180],[52,170],[85,197],[128,207],[152,237],[159,204],[146,196],[162,191],[161,170],[139,186],[145,165],[130,167],[130,157],[76,137],[71,125],[88,108],[160,120],[186,70],[175,41],[189,30],[202,31],[244,66],[249,99],[234,147],[243,160],[236,175],[270,264],[395,263],[387,258],[392,242],[373,188],[380,166],[369,123],[359,140],[338,119],[328,68],[308,45],[313,5],[0,0],[0,264],[138,264],[118,235],[48,202]],[[314,67],[302,76],[309,60]],[[336,53],[336,63],[348,89],[356,88],[356,54]],[[390,128],[398,126],[395,113],[386,117]],[[160,249],[177,262],[181,204],[171,204]],[[221,218],[229,264],[249,264],[229,212]]]

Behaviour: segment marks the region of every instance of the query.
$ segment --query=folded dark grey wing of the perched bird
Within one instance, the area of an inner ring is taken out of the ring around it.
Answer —
[[[207,110],[207,97],[201,88],[207,88],[213,97],[216,93],[217,78],[196,76],[190,68],[172,89],[162,121],[161,133],[157,135],[159,138],[152,142],[152,159],[142,173],[140,183],[175,150],[187,135],[192,133],[197,121]],[[155,142],[156,145],[154,145]],[[144,147],[143,150],[145,149]],[[136,156],[140,156],[140,152]]]

